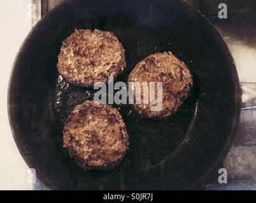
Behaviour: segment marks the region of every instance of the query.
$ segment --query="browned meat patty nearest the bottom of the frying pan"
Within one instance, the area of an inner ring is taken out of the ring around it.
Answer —
[[[63,131],[64,147],[76,164],[87,169],[111,169],[129,145],[125,123],[117,109],[85,101],[69,115]]]

